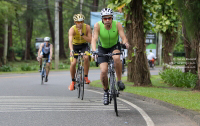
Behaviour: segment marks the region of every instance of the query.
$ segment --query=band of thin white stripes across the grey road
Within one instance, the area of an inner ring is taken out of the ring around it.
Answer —
[[[119,104],[119,110],[130,109]],[[113,111],[113,106],[104,106],[99,97],[80,100],[75,97],[55,96],[0,96],[0,112],[33,111]]]

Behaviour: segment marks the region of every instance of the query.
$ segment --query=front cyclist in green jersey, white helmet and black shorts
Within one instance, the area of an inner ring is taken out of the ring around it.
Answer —
[[[99,37],[98,43],[98,52],[107,54],[107,53],[120,53],[121,47],[118,41],[118,36],[122,38],[123,43],[126,45],[126,48],[129,48],[128,40],[124,34],[122,25],[113,20],[113,11],[110,8],[104,8],[101,10],[102,21],[97,22],[94,25],[93,34],[92,34],[92,51],[96,51],[96,41]],[[117,75],[117,84],[119,90],[124,90],[125,85],[121,81],[122,76],[122,64],[120,61],[120,55],[114,55],[114,64]],[[100,79],[104,87],[104,105],[109,104],[108,100],[108,59],[106,57],[98,57],[98,63],[100,64]]]

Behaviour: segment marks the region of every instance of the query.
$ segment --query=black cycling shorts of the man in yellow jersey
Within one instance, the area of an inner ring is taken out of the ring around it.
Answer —
[[[87,43],[81,44],[81,45],[73,45],[74,53],[82,52],[84,53],[85,51],[90,51],[90,47]],[[78,58],[78,56],[74,56],[74,58]]]

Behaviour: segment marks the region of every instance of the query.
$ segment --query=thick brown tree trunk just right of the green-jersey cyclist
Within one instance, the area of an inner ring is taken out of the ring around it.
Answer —
[[[127,23],[126,25],[128,31],[127,38],[130,42],[130,48],[128,50],[128,60],[130,61],[128,63],[128,81],[134,82],[135,86],[152,85],[145,53],[144,15],[142,6],[142,0],[131,1],[130,11],[132,14],[129,13],[127,19],[130,19],[132,23]]]

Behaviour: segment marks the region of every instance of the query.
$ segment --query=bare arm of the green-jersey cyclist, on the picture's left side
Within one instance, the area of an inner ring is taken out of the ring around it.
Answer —
[[[96,23],[94,25],[94,29],[93,29],[93,32],[92,32],[92,51],[96,51],[96,42],[98,40],[98,35],[99,35],[99,24]]]

